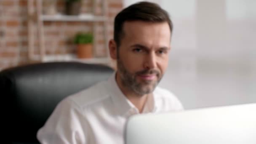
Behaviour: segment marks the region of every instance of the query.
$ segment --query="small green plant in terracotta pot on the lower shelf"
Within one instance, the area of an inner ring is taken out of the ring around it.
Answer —
[[[77,57],[80,59],[93,57],[93,35],[91,33],[77,33],[75,35],[77,44]]]

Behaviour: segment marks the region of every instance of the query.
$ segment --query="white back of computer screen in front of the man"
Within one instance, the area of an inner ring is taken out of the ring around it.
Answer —
[[[125,144],[256,144],[256,104],[134,115]]]

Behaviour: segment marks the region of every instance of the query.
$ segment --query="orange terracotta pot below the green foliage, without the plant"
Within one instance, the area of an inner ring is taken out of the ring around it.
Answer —
[[[77,57],[79,59],[88,59],[93,57],[93,45],[79,44],[77,45]]]

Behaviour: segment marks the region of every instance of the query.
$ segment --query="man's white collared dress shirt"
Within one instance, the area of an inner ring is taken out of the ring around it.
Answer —
[[[143,113],[179,111],[180,101],[155,88]],[[62,100],[37,132],[42,144],[123,144],[125,122],[139,110],[120,91],[115,75]]]

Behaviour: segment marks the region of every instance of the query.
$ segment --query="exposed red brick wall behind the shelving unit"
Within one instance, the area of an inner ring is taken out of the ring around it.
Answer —
[[[64,12],[64,0],[57,0],[58,13]],[[96,0],[100,6],[101,0]],[[123,8],[122,0],[108,0],[108,38],[113,37],[115,15]],[[28,59],[27,0],[0,0],[0,70],[30,63]],[[35,8],[36,9],[36,8]],[[97,8],[97,12],[100,8]],[[92,11],[92,0],[83,0],[81,12]],[[102,22],[97,23],[96,56],[106,55]],[[36,24],[35,24],[36,27]],[[35,29],[36,30],[36,29]],[[91,22],[45,21],[45,49],[48,54],[75,53],[72,43],[77,32],[92,32]],[[35,35],[37,31],[35,31]],[[35,37],[35,53],[39,54]]]

